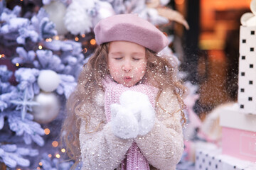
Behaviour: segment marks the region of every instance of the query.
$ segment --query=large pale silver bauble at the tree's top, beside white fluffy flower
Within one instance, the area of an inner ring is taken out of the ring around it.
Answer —
[[[66,13],[66,6],[60,1],[52,1],[50,4],[43,6],[48,13],[50,21],[55,23],[55,30],[57,30],[58,35],[65,35],[68,30],[64,25],[64,17]]]

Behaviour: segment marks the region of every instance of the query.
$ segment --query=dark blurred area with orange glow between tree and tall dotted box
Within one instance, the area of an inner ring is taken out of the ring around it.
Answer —
[[[240,17],[250,12],[250,0],[175,0],[176,9],[188,21],[190,30],[182,36],[184,69],[199,84],[196,112],[201,118],[215,106],[238,97]]]

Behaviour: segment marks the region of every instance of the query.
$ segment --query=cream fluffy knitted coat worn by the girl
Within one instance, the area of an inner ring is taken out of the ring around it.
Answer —
[[[144,136],[133,140],[123,140],[112,134],[104,109],[104,92],[99,91],[95,104],[84,104],[84,112],[91,113],[88,125],[83,119],[80,125],[80,149],[82,170],[120,169],[120,164],[132,142],[135,141],[151,169],[174,170],[183,153],[181,113],[176,96],[171,91],[163,91],[159,104],[170,115],[156,106],[154,128]],[[99,126],[98,126],[99,125]],[[97,129],[95,131],[95,129]]]

